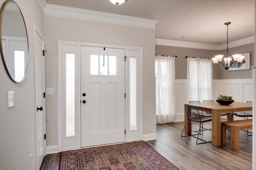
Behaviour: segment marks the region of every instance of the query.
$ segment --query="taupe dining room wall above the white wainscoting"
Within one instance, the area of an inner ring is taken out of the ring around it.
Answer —
[[[175,58],[175,78],[186,79],[186,56],[188,57],[203,57],[212,58],[214,55],[224,54],[224,50],[204,50],[204,49],[192,49],[184,47],[172,47],[164,45],[156,45],[156,55],[176,55]],[[239,47],[230,48],[230,53],[247,53],[251,54],[251,63],[254,63],[254,43],[242,45]],[[227,71],[219,65],[213,64],[213,79],[234,79],[234,78],[252,78],[252,69],[239,70],[239,71]]]

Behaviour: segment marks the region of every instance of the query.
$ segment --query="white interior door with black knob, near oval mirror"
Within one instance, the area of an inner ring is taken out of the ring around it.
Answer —
[[[46,114],[45,114],[45,73],[44,73],[44,39],[36,30],[35,35],[36,60],[36,169],[39,170],[46,156]]]

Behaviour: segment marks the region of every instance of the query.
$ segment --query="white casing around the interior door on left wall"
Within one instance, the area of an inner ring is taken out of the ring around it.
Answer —
[[[42,45],[43,45],[43,49],[44,49],[44,36],[42,35],[42,33],[41,33],[41,31],[38,29],[38,27],[37,27],[37,25],[36,25],[36,23],[34,23],[34,54],[36,54],[36,34],[38,34],[41,38],[42,38],[42,40],[43,40],[43,42],[42,42]],[[35,56],[35,55],[34,55]],[[35,90],[35,101],[37,101],[38,99],[37,99],[37,63],[36,63],[36,58],[34,58],[34,70],[35,70],[35,72],[36,72],[36,74],[34,74],[34,86],[35,86],[35,88],[34,88],[34,90]],[[44,82],[43,82],[43,90],[44,90],[44,92],[45,92],[45,62],[43,62],[42,63],[42,68],[43,68],[43,80],[44,80]],[[45,98],[43,99],[43,102],[44,102],[44,108],[43,108],[43,111],[44,111],[44,133],[46,133],[46,111],[45,111],[45,106],[46,106],[46,100],[45,100]],[[35,102],[35,162],[36,162],[36,165],[35,166],[37,166],[37,164],[38,164],[38,159],[37,159],[37,155],[38,155],[38,132],[37,132],[37,126],[38,126],[38,122],[37,122],[37,106],[36,106],[36,103],[37,102]],[[44,141],[44,156],[46,156],[46,140]],[[39,166],[39,165],[38,165]],[[40,168],[40,166],[39,167],[35,167],[35,169],[39,169]]]

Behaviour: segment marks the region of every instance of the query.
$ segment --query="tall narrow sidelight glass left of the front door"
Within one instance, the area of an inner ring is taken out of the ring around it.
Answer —
[[[66,54],[66,137],[75,135],[75,55]]]

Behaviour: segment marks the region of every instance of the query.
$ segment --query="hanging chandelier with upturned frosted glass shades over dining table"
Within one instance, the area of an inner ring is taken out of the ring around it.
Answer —
[[[230,52],[228,49],[228,25],[230,23],[231,22],[224,23],[225,25],[227,25],[227,48],[226,48],[224,55],[215,55],[215,57],[212,58],[212,61],[214,64],[220,64],[220,66],[224,67],[226,70],[228,70],[228,68],[234,66],[234,64],[236,64],[236,63],[241,63],[245,57],[245,56],[242,56],[242,54],[234,54],[232,56],[230,55]],[[223,61],[224,61],[224,63],[223,63]]]

